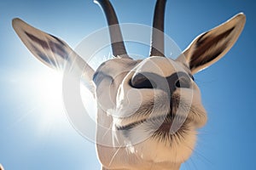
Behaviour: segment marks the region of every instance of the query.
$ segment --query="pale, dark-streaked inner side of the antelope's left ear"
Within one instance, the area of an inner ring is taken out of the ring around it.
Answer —
[[[61,39],[29,26],[20,19],[13,20],[13,27],[32,54],[54,69],[62,69],[73,52]]]

